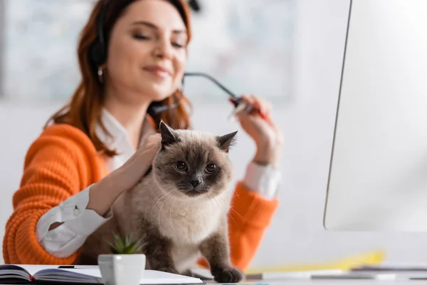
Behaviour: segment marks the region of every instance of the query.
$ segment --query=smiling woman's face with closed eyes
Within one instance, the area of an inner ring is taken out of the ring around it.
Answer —
[[[179,87],[186,63],[184,21],[164,0],[135,1],[117,19],[108,46],[107,76],[127,103],[159,101]]]

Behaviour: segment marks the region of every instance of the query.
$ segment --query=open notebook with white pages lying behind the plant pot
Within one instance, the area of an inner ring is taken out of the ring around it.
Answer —
[[[98,266],[74,266],[58,268],[53,265],[0,265],[1,284],[28,284],[33,282],[102,284]],[[201,279],[145,270],[139,284],[204,284]]]

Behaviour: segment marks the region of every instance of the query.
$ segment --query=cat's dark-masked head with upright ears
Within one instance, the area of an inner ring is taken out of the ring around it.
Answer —
[[[217,136],[173,130],[161,122],[162,148],[154,158],[154,179],[162,190],[177,197],[209,199],[227,191],[233,176],[228,150],[236,133]]]

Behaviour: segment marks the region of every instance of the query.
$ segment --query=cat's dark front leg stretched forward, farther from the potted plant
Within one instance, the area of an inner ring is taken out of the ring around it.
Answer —
[[[227,234],[215,233],[200,244],[200,252],[209,262],[211,274],[218,283],[242,281],[242,271],[231,265]]]

